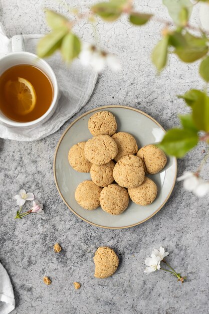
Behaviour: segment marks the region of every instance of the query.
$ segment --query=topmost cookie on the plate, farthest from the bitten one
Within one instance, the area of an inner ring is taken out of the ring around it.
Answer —
[[[88,128],[92,135],[112,135],[117,130],[117,122],[114,115],[109,111],[94,113],[89,121]]]

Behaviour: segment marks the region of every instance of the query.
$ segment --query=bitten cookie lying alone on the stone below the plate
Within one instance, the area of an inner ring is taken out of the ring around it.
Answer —
[[[117,270],[119,259],[110,247],[100,246],[95,252],[94,264],[94,276],[96,278],[107,278]]]

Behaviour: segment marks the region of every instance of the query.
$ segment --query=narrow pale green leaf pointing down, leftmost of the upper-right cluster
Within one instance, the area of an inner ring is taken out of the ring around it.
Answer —
[[[152,63],[156,66],[158,71],[162,70],[167,63],[168,40],[169,36],[166,35],[158,42],[152,51]]]

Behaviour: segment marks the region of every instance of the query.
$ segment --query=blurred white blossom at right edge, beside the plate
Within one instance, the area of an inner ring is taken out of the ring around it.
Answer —
[[[202,180],[193,172],[185,171],[181,177],[177,178],[177,181],[183,181],[184,189],[193,192],[198,197],[209,193],[209,182]]]

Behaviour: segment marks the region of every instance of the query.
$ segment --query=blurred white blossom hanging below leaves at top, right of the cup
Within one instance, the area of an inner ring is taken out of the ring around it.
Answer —
[[[106,65],[114,71],[121,68],[119,59],[115,55],[99,50],[89,43],[82,44],[79,58],[83,65],[91,65],[96,72],[101,72]]]

